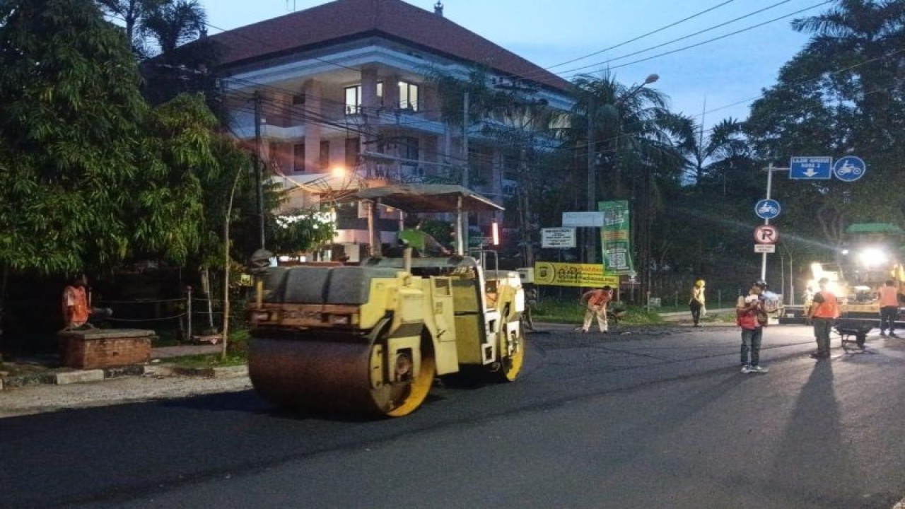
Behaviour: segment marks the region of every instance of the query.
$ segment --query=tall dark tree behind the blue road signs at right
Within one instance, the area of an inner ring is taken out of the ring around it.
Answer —
[[[784,199],[779,224],[794,222],[801,236],[839,245],[853,222],[901,223],[905,3],[841,0],[793,27],[812,36],[752,107],[747,130],[758,156],[786,166],[791,156],[853,154],[868,172],[854,183],[774,180]]]

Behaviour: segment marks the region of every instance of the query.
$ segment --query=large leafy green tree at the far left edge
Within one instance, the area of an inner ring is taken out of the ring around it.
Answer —
[[[0,261],[54,273],[126,255],[148,115],[129,44],[90,0],[6,0],[0,19]]]

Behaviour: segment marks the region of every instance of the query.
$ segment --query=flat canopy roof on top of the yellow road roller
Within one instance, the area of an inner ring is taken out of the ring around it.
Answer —
[[[455,212],[460,209],[459,198],[462,198],[463,212],[504,210],[488,197],[462,186],[445,184],[367,187],[360,189],[356,197],[380,201],[407,213]]]

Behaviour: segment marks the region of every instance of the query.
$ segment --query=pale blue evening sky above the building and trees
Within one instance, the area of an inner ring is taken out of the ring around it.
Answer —
[[[433,12],[436,0],[407,2]],[[201,1],[210,34],[326,3]],[[659,80],[648,86],[665,93],[673,111],[709,128],[729,117],[744,120],[751,101],[776,83],[782,65],[808,40],[792,30],[791,20],[832,5],[826,0],[444,0],[443,15],[566,79],[609,69],[631,86],[655,73]],[[736,18],[742,19],[732,21]],[[714,38],[719,40],[706,42]],[[683,49],[687,46],[694,47]],[[631,53],[637,54],[627,56]]]

